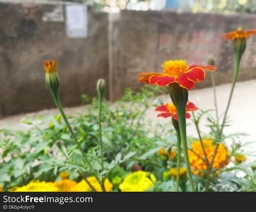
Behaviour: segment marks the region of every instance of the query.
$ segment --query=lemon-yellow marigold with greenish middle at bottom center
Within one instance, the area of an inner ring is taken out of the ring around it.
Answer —
[[[131,173],[125,177],[124,181],[119,185],[121,191],[145,191],[148,188],[153,187],[153,182],[155,180],[154,175],[151,175],[150,180],[147,176],[148,172],[137,171]]]

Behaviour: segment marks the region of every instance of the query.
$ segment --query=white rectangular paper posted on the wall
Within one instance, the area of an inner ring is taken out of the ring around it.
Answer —
[[[65,7],[66,33],[70,38],[87,37],[87,7],[67,5]]]

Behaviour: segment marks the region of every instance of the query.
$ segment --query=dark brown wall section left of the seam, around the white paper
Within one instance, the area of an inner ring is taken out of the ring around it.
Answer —
[[[56,59],[63,106],[96,96],[96,82],[108,83],[108,15],[88,8],[88,37],[67,38],[65,21],[43,21],[56,4],[0,3],[0,114],[55,107],[45,85],[42,61]],[[108,94],[108,91],[106,92]],[[108,98],[108,96],[106,96]]]

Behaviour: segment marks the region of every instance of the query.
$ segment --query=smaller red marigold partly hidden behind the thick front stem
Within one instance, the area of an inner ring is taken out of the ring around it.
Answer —
[[[189,102],[187,105],[186,105],[186,112],[187,111],[192,111],[192,110],[198,110],[197,107],[195,107],[195,105],[192,103],[192,102]],[[157,117],[161,116],[163,118],[168,118],[170,116],[173,116],[173,118],[178,121],[178,115],[177,115],[177,109],[176,107],[174,106],[174,104],[171,102],[169,104],[166,104],[166,105],[161,105],[161,106],[158,106],[155,111],[160,111],[162,113],[158,114]],[[190,118],[190,114],[189,113],[186,113],[186,118]]]

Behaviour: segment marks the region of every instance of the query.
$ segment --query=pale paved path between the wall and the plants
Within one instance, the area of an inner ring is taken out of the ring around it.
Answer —
[[[227,98],[229,96],[231,84],[219,85],[216,87],[217,103],[219,108],[219,114],[223,113],[227,104]],[[241,142],[246,141],[256,141],[256,129],[255,129],[255,105],[256,105],[256,80],[249,80],[243,82],[237,82],[234,90],[232,102],[228,112],[228,116],[231,122],[231,126],[226,127],[224,130],[225,134],[231,134],[236,132],[244,132],[248,134],[246,137],[241,137]],[[164,103],[170,102],[170,97],[168,95],[159,96]],[[214,109],[214,97],[212,87],[204,89],[192,89],[189,91],[189,101],[193,102],[200,109]],[[66,108],[65,111],[68,114],[74,114],[75,111],[81,110],[86,106],[82,107],[72,107]],[[53,114],[59,114],[57,109],[43,110],[39,112],[33,112],[26,114],[26,117],[37,117],[38,115],[48,116]],[[161,121],[166,122],[165,118],[157,118],[158,112],[154,111],[154,107],[147,111],[148,117],[153,120],[153,122]],[[214,112],[212,112],[214,115]],[[18,125],[19,120],[24,117],[25,114],[10,116],[0,120],[0,127],[7,123],[13,123],[13,127]],[[187,134],[190,136],[197,136],[195,126],[191,120],[187,121]],[[209,133],[209,128],[205,127],[207,123],[206,118],[203,118],[200,122],[200,130],[203,134],[207,135]],[[228,141],[230,143],[230,141]],[[247,148],[246,150],[256,150],[256,143],[252,145],[253,149]],[[255,153],[256,154],[256,153]],[[255,156],[248,158],[248,161],[255,160]]]

